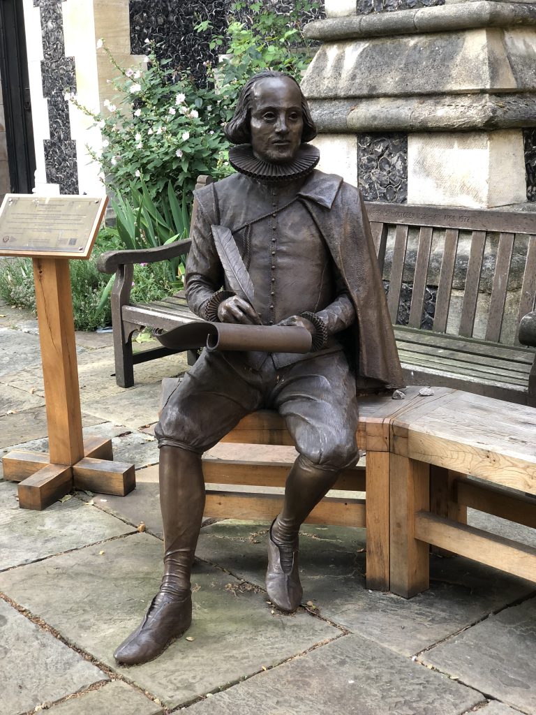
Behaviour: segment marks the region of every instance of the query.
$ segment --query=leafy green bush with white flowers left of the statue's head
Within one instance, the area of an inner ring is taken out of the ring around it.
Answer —
[[[118,72],[113,80],[115,103],[105,100],[106,112],[92,112],[74,95],[66,97],[101,130],[102,150],[87,150],[99,162],[107,187],[126,195],[133,179],[145,179],[154,199],[171,181],[177,194],[189,196],[199,174],[228,173],[228,144],[212,89],[196,87],[187,72],[171,66],[171,60],[157,59],[154,43],[147,44],[143,70],[124,69],[104,41],[97,46]]]

